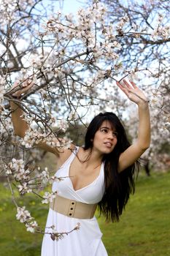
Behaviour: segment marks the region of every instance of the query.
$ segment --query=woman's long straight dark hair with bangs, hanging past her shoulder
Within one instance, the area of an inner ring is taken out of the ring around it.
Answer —
[[[106,112],[99,113],[98,116],[93,118],[88,126],[88,130],[85,135],[85,147],[93,148],[93,138],[95,133],[101,127],[104,121],[109,121],[112,127],[117,132],[117,144],[114,150],[109,154],[104,154],[102,161],[104,162],[104,184],[105,192],[101,202],[98,203],[100,214],[104,214],[107,221],[112,222],[119,221],[119,217],[125,208],[126,203],[131,193],[135,190],[135,163],[125,170],[118,173],[118,160],[120,154],[125,151],[131,144],[128,141],[123,124],[115,113]]]

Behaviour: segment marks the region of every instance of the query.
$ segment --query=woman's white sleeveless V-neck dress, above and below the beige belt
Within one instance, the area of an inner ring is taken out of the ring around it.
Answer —
[[[104,164],[98,177],[86,187],[74,190],[69,176],[69,167],[77,153],[78,147],[71,156],[59,168],[55,176],[67,177],[62,181],[53,183],[53,192],[58,195],[77,200],[82,203],[98,203],[104,195]],[[57,232],[69,232],[77,223],[80,223],[80,229],[74,230],[63,239],[53,241],[50,235],[45,234],[42,241],[42,256],[107,256],[107,251],[101,241],[101,230],[98,227],[96,217],[92,219],[76,219],[59,214],[49,209],[45,232],[50,232],[49,227],[55,226]]]

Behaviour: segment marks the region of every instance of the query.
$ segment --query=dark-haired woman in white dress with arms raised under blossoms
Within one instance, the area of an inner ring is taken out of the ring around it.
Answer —
[[[20,97],[32,85],[15,93]],[[150,114],[147,98],[133,83],[123,80],[117,86],[139,109],[139,130],[136,142],[130,145],[125,129],[114,113],[100,113],[91,121],[85,135],[85,147],[71,145],[60,152],[45,143],[40,148],[58,156],[59,169],[55,176],[68,177],[53,183],[57,192],[47,217],[42,256],[105,256],[94,212],[96,206],[106,219],[118,221],[131,192],[134,192],[134,164],[150,145]],[[15,134],[23,137],[28,125],[22,110],[11,102]],[[52,227],[69,232],[80,223],[80,230],[62,240],[49,235]],[[53,239],[52,239],[53,238]]]

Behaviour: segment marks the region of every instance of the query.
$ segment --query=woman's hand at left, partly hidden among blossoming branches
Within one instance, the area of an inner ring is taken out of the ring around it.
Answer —
[[[28,79],[23,83],[15,82],[11,90],[11,92],[14,91],[12,93],[12,97],[20,98],[21,95],[26,94],[29,91],[29,89],[31,89],[32,86],[34,86],[34,83],[32,82],[31,79]]]

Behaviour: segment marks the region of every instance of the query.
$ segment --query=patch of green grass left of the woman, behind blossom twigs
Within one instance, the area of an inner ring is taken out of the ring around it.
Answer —
[[[40,255],[42,236],[27,232],[25,226],[16,220],[16,208],[12,203],[9,192],[2,185],[0,187],[0,193],[0,255]],[[39,223],[45,225],[47,209],[45,209],[45,206],[41,206],[38,201],[36,202],[36,200],[28,196],[26,198],[26,206],[31,209],[31,215],[36,217]],[[23,199],[20,199],[18,203],[22,205]]]

